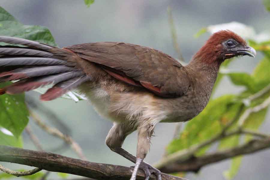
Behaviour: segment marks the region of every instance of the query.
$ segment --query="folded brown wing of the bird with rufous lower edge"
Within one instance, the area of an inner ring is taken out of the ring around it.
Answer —
[[[182,96],[189,84],[184,67],[171,56],[134,44],[99,42],[65,47],[101,64],[119,80],[143,86],[161,97]]]

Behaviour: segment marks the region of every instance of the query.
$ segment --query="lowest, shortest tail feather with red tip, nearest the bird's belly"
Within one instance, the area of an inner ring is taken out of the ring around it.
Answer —
[[[41,95],[42,101],[50,101],[56,99],[62,95],[64,95],[67,91],[81,85],[83,82],[91,80],[90,76],[84,75],[80,77],[75,77],[63,82],[59,82],[55,84],[52,88],[48,89],[48,91]]]

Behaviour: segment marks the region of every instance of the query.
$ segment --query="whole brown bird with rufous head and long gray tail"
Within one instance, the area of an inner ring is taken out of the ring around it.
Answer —
[[[212,34],[187,65],[156,49],[122,42],[95,42],[58,48],[36,41],[0,36],[0,94],[18,94],[53,85],[42,101],[78,89],[105,119],[113,121],[105,143],[135,163],[146,180],[161,172],[144,158],[159,122],[186,122],[208,104],[223,61],[256,51],[229,30]],[[137,152],[122,148],[125,138],[138,131]]]

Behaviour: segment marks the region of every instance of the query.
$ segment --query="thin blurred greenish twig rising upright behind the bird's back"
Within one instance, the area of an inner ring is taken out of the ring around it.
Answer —
[[[178,59],[182,62],[184,62],[184,58],[182,55],[182,52],[179,48],[179,44],[177,43],[177,35],[176,35],[176,28],[173,22],[173,15],[172,15],[172,9],[170,6],[168,6],[167,9],[168,12],[168,16],[169,16],[169,24],[170,24],[170,28],[171,28],[171,34],[172,34],[172,39],[173,39],[173,47],[176,50],[177,54],[178,54]]]

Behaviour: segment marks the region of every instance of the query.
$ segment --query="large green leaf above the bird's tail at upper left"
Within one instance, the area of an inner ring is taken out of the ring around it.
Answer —
[[[0,34],[57,46],[52,34],[46,27],[23,25],[2,7],[0,7]]]

